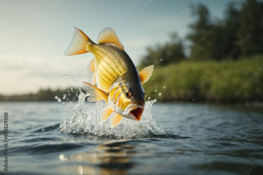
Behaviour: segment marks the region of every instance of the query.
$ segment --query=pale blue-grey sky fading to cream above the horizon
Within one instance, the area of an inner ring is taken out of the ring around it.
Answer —
[[[146,45],[163,45],[170,41],[173,32],[182,39],[191,32],[189,24],[194,22],[191,10],[198,4],[205,4],[216,20],[224,17],[230,2],[1,0],[0,94],[37,93],[40,89],[55,90],[65,84],[76,87],[77,82],[90,82],[92,75],[86,67],[93,54],[63,54],[73,38],[74,26],[96,43],[102,29],[112,28],[138,66],[147,54]],[[178,18],[181,10],[185,13]]]

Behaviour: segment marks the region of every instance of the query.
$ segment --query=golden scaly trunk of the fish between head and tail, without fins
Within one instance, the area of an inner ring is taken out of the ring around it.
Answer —
[[[125,74],[133,76],[136,82],[140,82],[136,67],[125,51],[112,44],[92,44],[88,47],[95,55],[95,77],[98,88],[109,93],[112,84]]]

